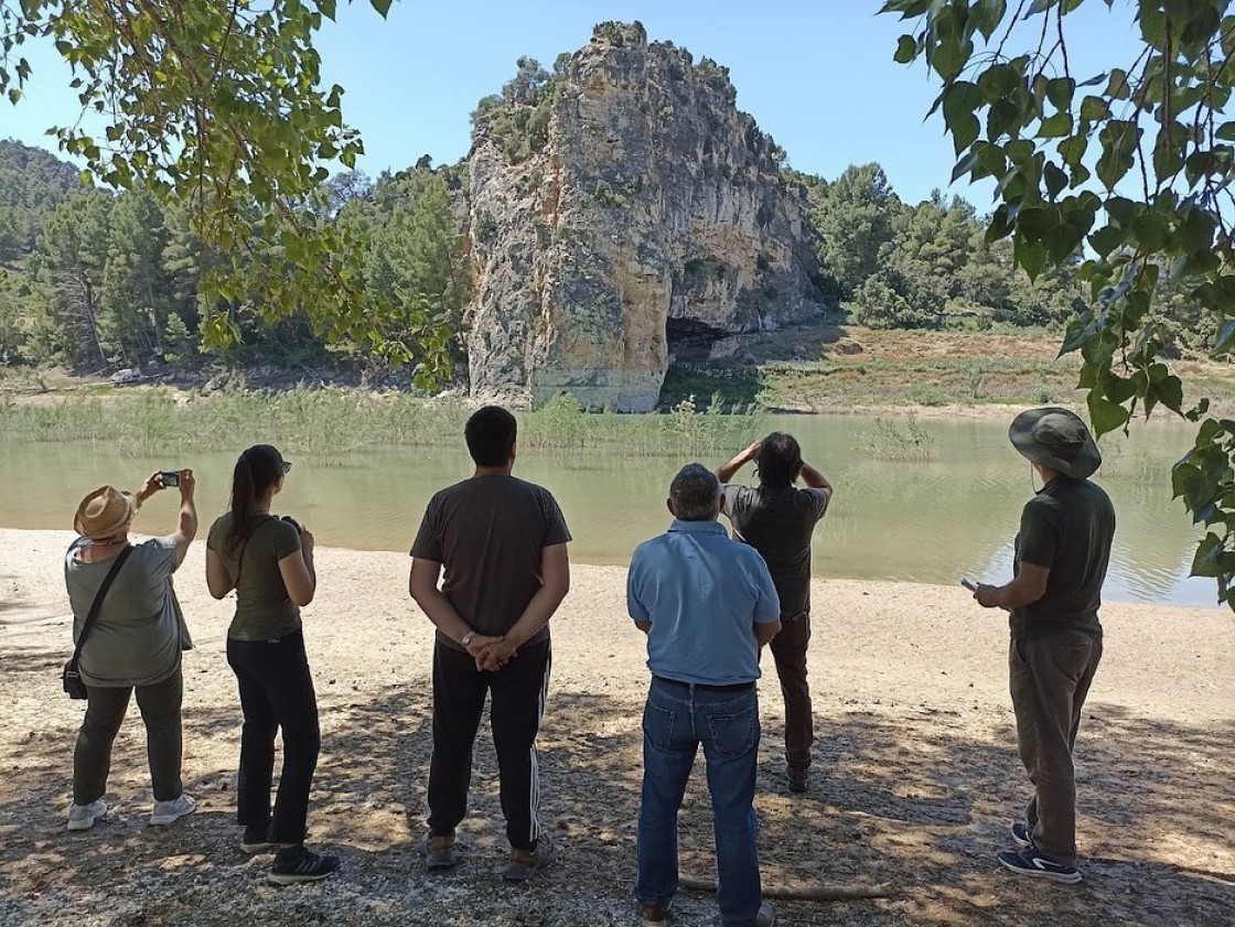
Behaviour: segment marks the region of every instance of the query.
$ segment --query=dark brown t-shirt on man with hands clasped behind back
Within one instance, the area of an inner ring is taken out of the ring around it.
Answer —
[[[477,633],[510,631],[541,588],[541,551],[571,539],[557,500],[516,476],[473,476],[429,500],[411,555],[445,568],[442,594]],[[529,643],[548,637],[542,628]],[[442,643],[461,648],[437,633]]]

